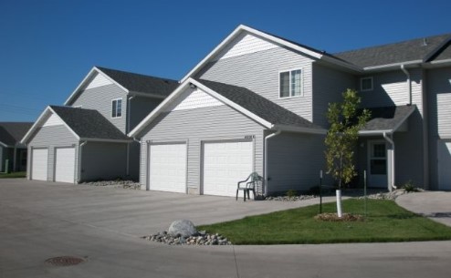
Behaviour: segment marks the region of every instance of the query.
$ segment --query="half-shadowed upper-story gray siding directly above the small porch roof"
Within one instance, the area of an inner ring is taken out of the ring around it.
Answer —
[[[411,77],[412,102],[420,113],[423,113],[422,104],[422,70],[419,68],[408,69]],[[361,91],[362,107],[389,107],[400,106],[409,103],[407,77],[399,69],[377,74],[368,74],[364,77],[372,77],[373,89]],[[360,78],[357,78],[357,88],[360,90]]]

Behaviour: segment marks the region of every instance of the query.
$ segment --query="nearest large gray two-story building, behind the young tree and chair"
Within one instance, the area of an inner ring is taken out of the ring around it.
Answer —
[[[360,182],[451,189],[450,35],[330,55],[247,26],[193,68],[129,133],[143,190],[233,196],[251,171],[259,194],[309,190],[324,170],[325,116],[347,88],[372,119]]]

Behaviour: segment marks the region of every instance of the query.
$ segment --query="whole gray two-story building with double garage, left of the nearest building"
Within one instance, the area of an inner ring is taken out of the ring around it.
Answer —
[[[170,79],[93,67],[65,107],[47,107],[22,139],[27,178],[137,180],[140,145],[126,134],[177,86]]]

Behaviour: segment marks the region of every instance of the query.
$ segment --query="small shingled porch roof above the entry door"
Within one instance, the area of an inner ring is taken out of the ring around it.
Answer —
[[[368,108],[371,113],[371,119],[361,129],[361,131],[371,130],[393,130],[399,127],[403,121],[408,118],[416,106],[404,105],[397,107]]]

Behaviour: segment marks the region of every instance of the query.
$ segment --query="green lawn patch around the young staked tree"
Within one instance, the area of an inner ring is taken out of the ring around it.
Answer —
[[[335,203],[323,212],[335,212]],[[343,211],[364,214],[364,201],[343,201]],[[237,221],[199,226],[199,231],[219,233],[234,244],[301,244],[335,242],[416,242],[451,240],[451,228],[406,211],[394,201],[367,202],[364,221],[317,221],[319,205]]]

